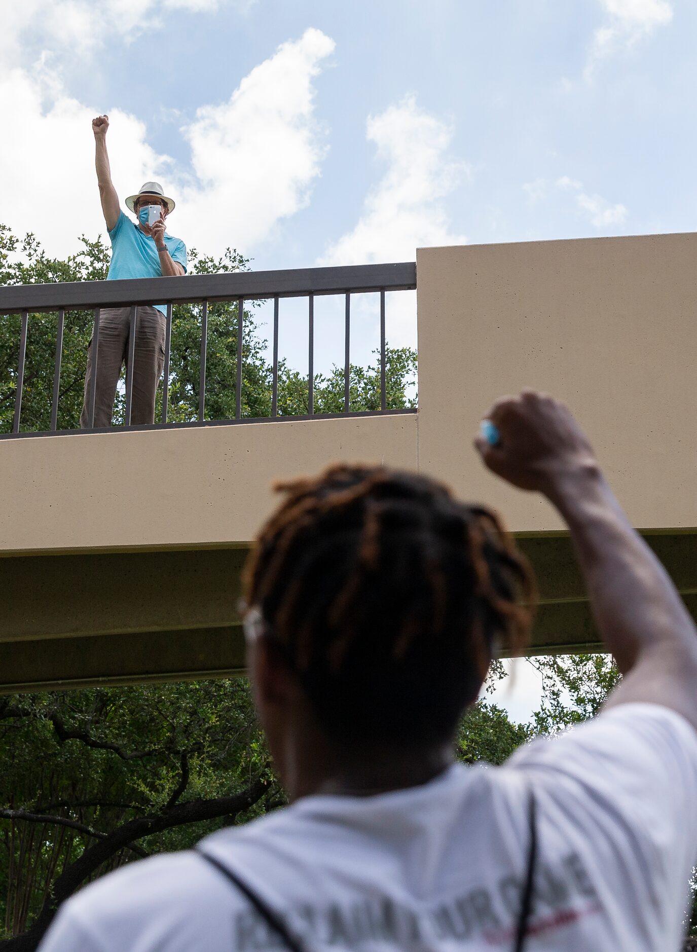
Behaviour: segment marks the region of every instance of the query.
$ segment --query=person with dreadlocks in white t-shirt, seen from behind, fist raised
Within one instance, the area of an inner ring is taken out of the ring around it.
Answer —
[[[423,475],[279,486],[246,573],[249,676],[285,809],[94,883],[43,952],[677,949],[697,859],[697,638],[568,409],[492,407],[485,464],[568,524],[623,678],[501,767],[453,763],[534,585],[498,516]]]

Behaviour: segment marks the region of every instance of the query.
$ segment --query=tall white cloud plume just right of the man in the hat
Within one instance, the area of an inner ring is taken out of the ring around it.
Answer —
[[[252,248],[308,204],[327,150],[313,80],[333,49],[325,33],[306,30],[252,69],[227,103],[198,109],[182,129],[195,174],[179,189],[177,228],[192,244],[220,247],[234,236]]]

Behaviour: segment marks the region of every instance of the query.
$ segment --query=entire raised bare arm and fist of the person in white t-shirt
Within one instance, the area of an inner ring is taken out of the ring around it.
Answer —
[[[629,525],[567,407],[525,391],[491,409],[487,466],[537,489],[568,524],[598,630],[624,675],[607,705],[663,704],[697,728],[697,630],[667,572]]]

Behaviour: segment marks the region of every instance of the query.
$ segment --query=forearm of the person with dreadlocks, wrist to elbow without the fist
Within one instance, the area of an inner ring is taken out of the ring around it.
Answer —
[[[620,671],[647,658],[697,662],[682,599],[602,474],[589,469],[558,479],[548,496],[568,523],[595,623]]]

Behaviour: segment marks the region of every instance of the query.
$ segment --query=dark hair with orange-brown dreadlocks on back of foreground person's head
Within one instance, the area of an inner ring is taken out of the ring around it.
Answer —
[[[530,570],[498,517],[384,467],[279,484],[246,598],[340,743],[449,739],[496,644],[528,635]]]

